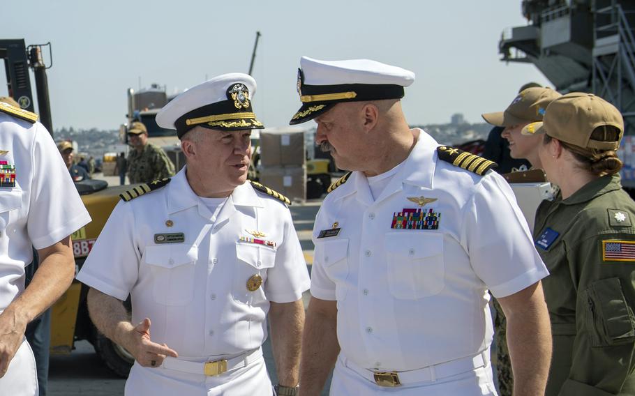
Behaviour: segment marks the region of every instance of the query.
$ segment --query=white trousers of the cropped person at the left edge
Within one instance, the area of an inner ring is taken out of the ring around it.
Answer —
[[[37,396],[38,393],[36,359],[25,338],[10,361],[6,374],[0,378],[0,395]]]

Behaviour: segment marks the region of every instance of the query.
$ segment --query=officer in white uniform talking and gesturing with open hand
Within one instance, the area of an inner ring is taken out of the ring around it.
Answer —
[[[124,194],[77,275],[96,326],[135,356],[126,395],[271,395],[267,317],[276,388],[297,394],[309,279],[290,202],[246,179],[254,92],[221,75],[161,109],[186,167]]]

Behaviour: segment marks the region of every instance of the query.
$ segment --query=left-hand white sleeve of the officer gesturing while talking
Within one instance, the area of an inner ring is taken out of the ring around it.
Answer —
[[[119,201],[89,253],[77,280],[126,300],[139,275],[141,254],[135,238],[132,204]]]

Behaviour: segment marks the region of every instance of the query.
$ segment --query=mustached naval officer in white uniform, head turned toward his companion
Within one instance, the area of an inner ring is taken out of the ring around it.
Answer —
[[[338,168],[315,220],[301,395],[495,395],[488,289],[507,314],[514,395],[541,395],[548,272],[495,164],[410,129],[414,73],[302,58],[301,109]],[[334,190],[333,190],[334,189]]]

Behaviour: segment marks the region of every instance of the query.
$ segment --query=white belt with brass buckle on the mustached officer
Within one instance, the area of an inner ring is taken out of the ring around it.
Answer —
[[[346,358],[343,358],[342,363],[344,363],[345,367],[350,368],[368,381],[376,383],[378,386],[392,387],[406,383],[436,381],[437,379],[442,379],[447,376],[453,376],[479,367],[484,367],[488,361],[489,359],[487,358],[485,351],[483,351],[474,357],[460,358],[446,363],[440,363],[438,365],[422,367],[417,370],[401,372],[366,369]]]

